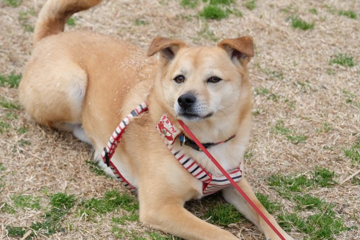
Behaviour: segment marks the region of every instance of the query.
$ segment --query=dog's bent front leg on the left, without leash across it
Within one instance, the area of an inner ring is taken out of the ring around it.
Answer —
[[[139,191],[140,221],[185,239],[239,239],[231,233],[194,216],[179,196]]]

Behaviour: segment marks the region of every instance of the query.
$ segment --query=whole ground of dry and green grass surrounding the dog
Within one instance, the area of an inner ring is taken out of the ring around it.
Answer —
[[[101,174],[91,147],[26,120],[17,85],[43,4],[0,1],[0,238],[173,239],[139,223],[136,197]],[[249,183],[295,239],[360,239],[359,9],[340,0],[109,0],[75,14],[66,31],[144,50],[157,35],[192,45],[253,36]],[[186,207],[242,239],[264,239],[220,195]]]

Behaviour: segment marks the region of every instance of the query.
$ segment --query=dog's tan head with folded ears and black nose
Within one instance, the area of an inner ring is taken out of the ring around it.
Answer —
[[[226,39],[216,47],[188,47],[183,41],[158,37],[148,56],[157,52],[160,67],[154,87],[172,117],[213,127],[237,125],[244,110],[248,114],[247,63],[254,56],[250,36]]]

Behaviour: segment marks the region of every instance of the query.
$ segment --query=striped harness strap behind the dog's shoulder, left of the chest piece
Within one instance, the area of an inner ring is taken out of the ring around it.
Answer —
[[[136,188],[132,186],[118,171],[114,163],[111,161],[111,158],[113,157],[116,147],[119,144],[120,139],[122,138],[122,135],[124,134],[129,122],[134,117],[139,116],[141,113],[144,113],[148,110],[148,105],[146,102],[140,103],[134,110],[131,111],[131,113],[125,117],[120,124],[116,127],[116,130],[111,135],[109,142],[107,142],[106,147],[104,147],[104,150],[101,154],[101,158],[106,163],[107,167],[110,167],[116,176],[118,180],[125,186],[127,189],[129,189],[131,192],[135,192]]]

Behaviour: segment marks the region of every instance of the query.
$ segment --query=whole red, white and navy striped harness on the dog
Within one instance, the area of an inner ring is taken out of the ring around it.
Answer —
[[[109,142],[107,143],[106,147],[104,147],[104,150],[101,154],[101,158],[103,159],[104,163],[106,163],[106,165],[112,169],[117,179],[120,180],[123,186],[125,186],[131,192],[136,192],[136,188],[120,174],[115,164],[111,161],[111,157],[114,155],[116,147],[122,138],[122,135],[125,132],[130,120],[139,116],[141,113],[146,112],[147,110],[148,106],[145,102],[142,102],[134,110],[132,110],[131,113],[120,122],[119,126],[110,137]],[[191,175],[203,182],[204,196],[218,192],[219,190],[231,185],[230,181],[224,175],[214,175],[207,172],[204,168],[201,167],[201,165],[197,164],[194,159],[184,153],[181,146],[176,147],[173,145],[176,138],[178,136],[183,136],[183,134],[176,128],[176,126],[174,126],[174,124],[166,115],[163,115],[160,118],[156,128],[161,137],[163,137],[166,146],[175,156],[177,161],[181,163]],[[181,139],[184,139],[184,136]],[[228,174],[234,181],[240,181],[242,176],[242,165],[240,165],[239,168],[229,171]]]

